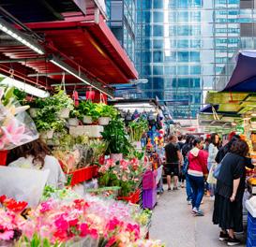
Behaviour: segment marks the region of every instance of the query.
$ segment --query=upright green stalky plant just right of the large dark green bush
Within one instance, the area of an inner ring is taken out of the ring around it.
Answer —
[[[143,133],[148,130],[148,123],[143,118],[138,118],[128,124],[130,141],[141,141]]]

